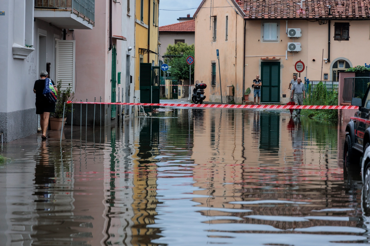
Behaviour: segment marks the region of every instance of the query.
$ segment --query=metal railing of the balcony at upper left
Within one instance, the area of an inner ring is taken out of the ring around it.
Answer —
[[[70,10],[85,20],[95,21],[94,0],[35,0],[35,8]]]

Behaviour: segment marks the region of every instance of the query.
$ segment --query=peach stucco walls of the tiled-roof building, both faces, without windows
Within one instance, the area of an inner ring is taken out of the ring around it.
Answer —
[[[207,6],[209,3],[206,1],[203,6]],[[212,3],[213,4],[213,3]],[[235,12],[231,11],[231,7],[226,6],[225,1],[215,1],[214,7],[212,8],[213,13],[211,15],[217,15],[217,41],[212,41],[212,30],[209,30],[209,10],[201,9],[195,18],[195,79],[203,80],[203,82],[210,83],[211,81],[211,61],[216,61],[216,87],[211,87],[209,91],[214,101],[219,101],[217,95],[219,95],[219,73],[218,73],[218,61],[216,60],[215,51],[219,49],[220,62],[221,62],[221,82],[222,82],[222,94],[224,95],[224,84],[228,84],[229,81],[235,77],[235,69],[230,65],[233,65],[235,56],[235,44],[230,42],[235,39]],[[222,8],[216,8],[222,7]],[[229,13],[229,40],[224,41],[225,35],[225,15]],[[233,14],[231,14],[233,13]],[[239,44],[243,43],[243,19],[238,18],[238,33],[237,40]],[[277,22],[278,23],[278,40],[277,41],[263,41],[262,40],[262,23],[263,22]],[[335,22],[350,22],[350,39],[349,41],[334,41],[334,23]],[[325,22],[324,22],[325,23]],[[212,24],[212,22],[211,22]],[[297,73],[295,70],[295,63],[302,60],[306,69],[300,74],[302,80],[307,77],[310,81],[321,80],[321,74],[328,73],[329,79],[332,80],[332,63],[336,59],[345,58],[353,66],[364,65],[369,63],[369,49],[367,47],[370,44],[370,32],[369,32],[370,21],[331,21],[330,23],[330,60],[331,62],[325,63],[322,59],[328,57],[328,23],[319,24],[318,21],[310,22],[306,20],[289,20],[288,28],[301,28],[302,37],[299,39],[287,37],[286,34],[286,21],[285,20],[247,20],[246,21],[246,58],[245,58],[245,88],[251,87],[252,80],[255,79],[256,74],[260,74],[261,58],[266,56],[272,58],[280,58],[276,60],[280,62],[280,103],[287,103],[289,101],[290,90],[289,82],[293,77],[293,73]],[[212,29],[212,27],[211,27]],[[221,35],[221,39],[219,39]],[[233,36],[233,37],[232,37]],[[302,51],[290,53],[288,52],[288,59],[285,60],[285,51],[287,50],[288,42],[300,42],[302,45]],[[234,50],[234,51],[233,51]],[[239,62],[239,58],[242,59],[243,49],[237,48],[237,74],[242,75],[243,62]],[[226,54],[226,58],[224,57]],[[313,59],[315,61],[313,61]],[[223,69],[224,68],[224,69]],[[322,72],[321,72],[322,70]],[[225,77],[225,78],[224,78]],[[223,79],[224,78],[224,79]],[[227,81],[226,83],[224,83]],[[235,81],[235,79],[234,79]],[[234,82],[233,82],[234,83]],[[239,88],[242,88],[242,79],[238,79],[237,83]],[[263,86],[263,82],[262,82]],[[212,92],[213,91],[213,92]],[[226,91],[226,90],[225,90]],[[242,91],[236,90],[237,97],[242,96]],[[253,90],[252,90],[253,93]],[[212,96],[215,95],[215,96]],[[283,94],[286,95],[283,98]],[[226,94],[225,94],[226,95]],[[219,96],[218,96],[219,97]],[[237,98],[238,100],[238,98]],[[237,101],[238,102],[238,101]]]

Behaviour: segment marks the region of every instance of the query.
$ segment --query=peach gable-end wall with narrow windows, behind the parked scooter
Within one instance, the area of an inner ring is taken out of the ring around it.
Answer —
[[[205,1],[203,6],[209,6]],[[212,2],[213,4],[213,2]],[[243,88],[243,17],[227,1],[214,2],[212,16],[217,15],[217,40],[212,41],[209,30],[209,8],[202,8],[195,17],[195,80],[207,84],[205,95],[220,102],[219,67],[216,49],[220,51],[222,100],[226,102],[226,86],[235,86],[236,102],[241,103]],[[208,9],[208,11],[206,11]],[[228,15],[228,40],[225,40],[225,19]],[[213,23],[213,21],[212,21]],[[216,62],[216,85],[211,86],[211,62]]]

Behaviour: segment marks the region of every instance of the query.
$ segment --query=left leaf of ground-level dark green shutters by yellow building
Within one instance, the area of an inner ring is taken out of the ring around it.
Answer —
[[[140,63],[140,102],[151,103],[152,63]]]

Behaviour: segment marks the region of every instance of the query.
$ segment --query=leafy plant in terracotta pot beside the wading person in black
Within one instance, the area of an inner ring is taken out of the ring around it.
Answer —
[[[65,115],[69,114],[72,111],[72,104],[67,104],[67,101],[72,101],[74,98],[74,92],[72,92],[71,84],[68,84],[68,88],[65,90],[61,90],[62,81],[57,81],[57,89],[58,89],[58,99],[55,103],[55,112],[50,114],[49,124],[51,130],[61,130],[62,129],[62,122],[65,124],[65,120],[67,117]],[[65,104],[64,110],[64,119],[63,117],[63,107]]]

